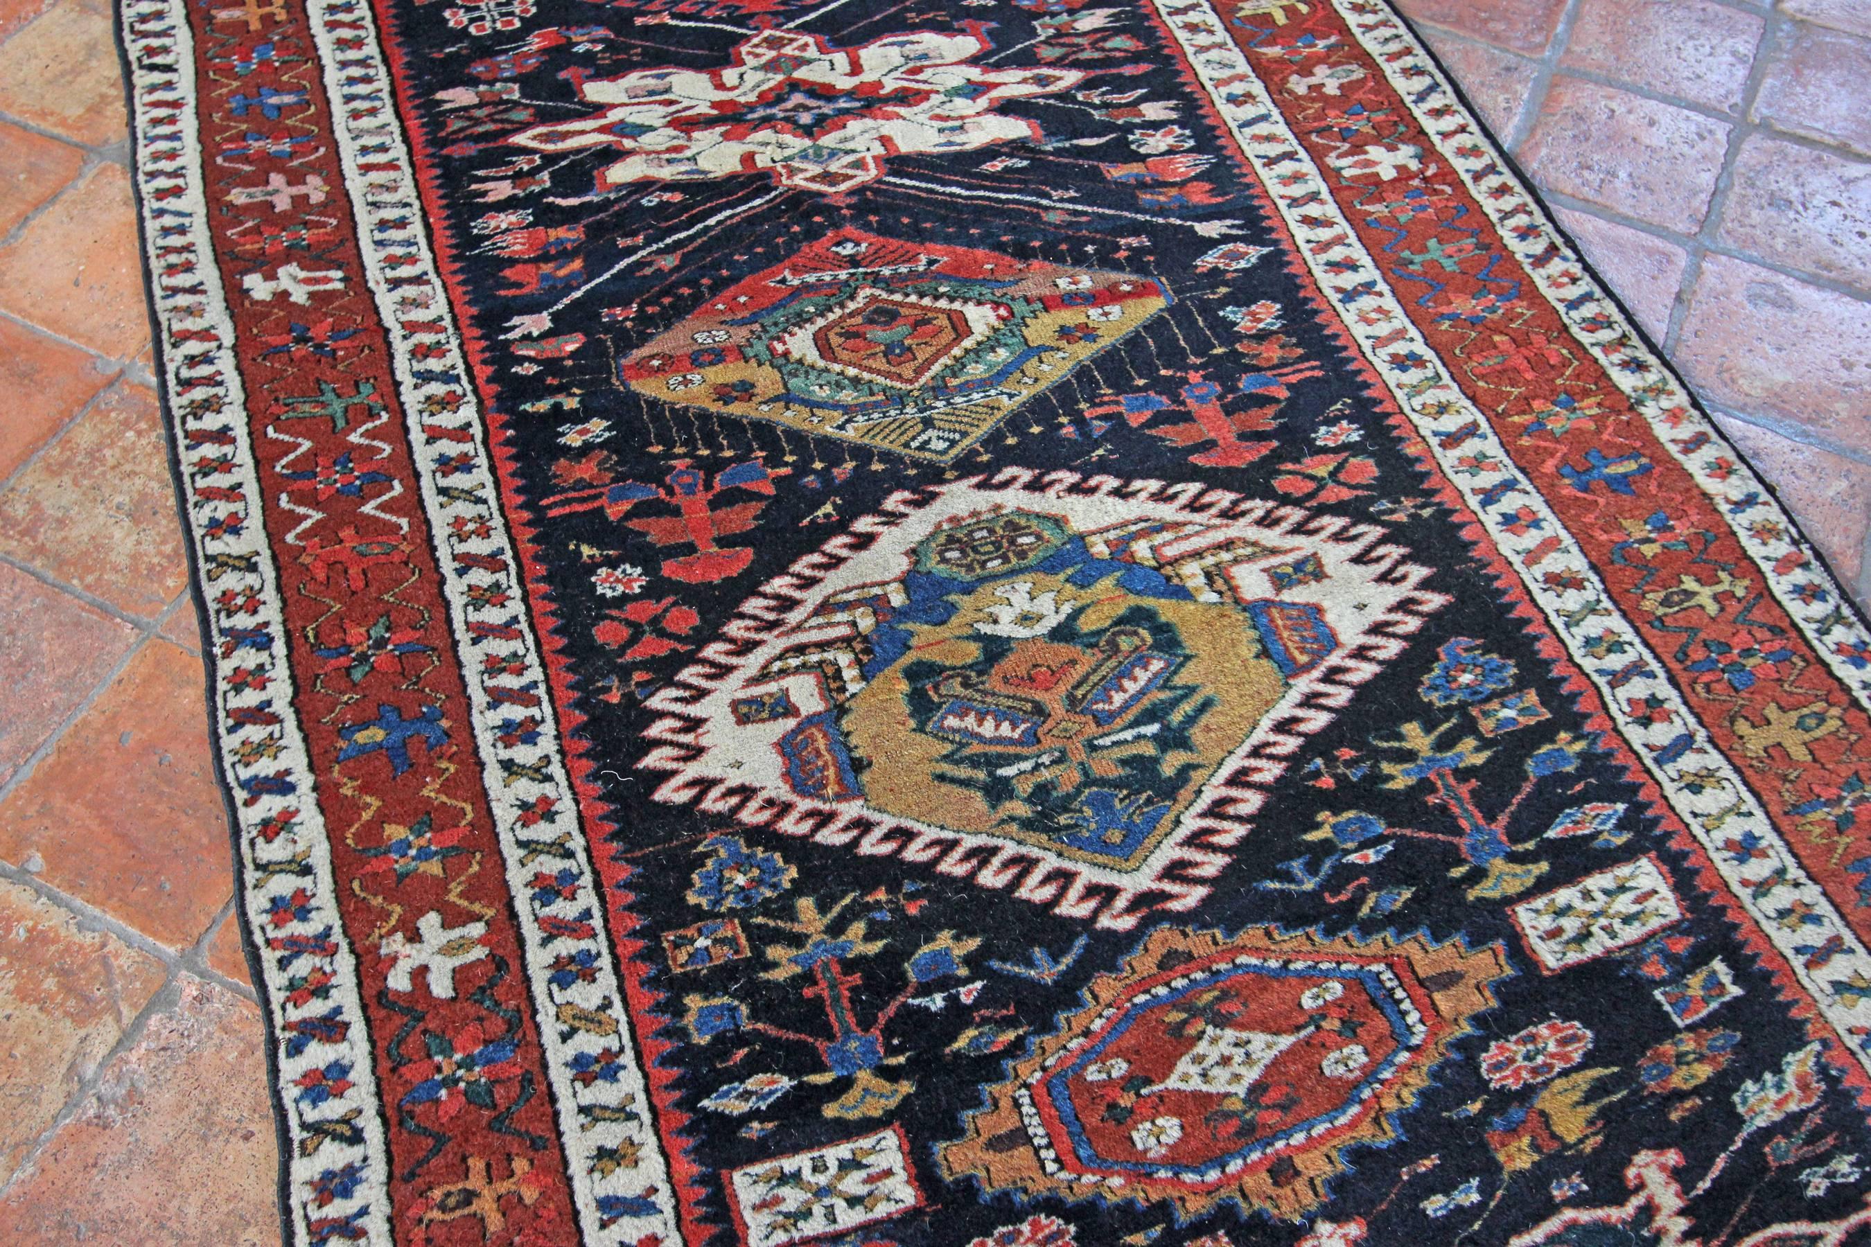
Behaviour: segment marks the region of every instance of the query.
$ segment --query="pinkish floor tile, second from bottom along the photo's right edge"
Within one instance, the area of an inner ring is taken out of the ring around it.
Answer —
[[[1719,404],[1871,452],[1871,303],[1706,256],[1676,363]]]

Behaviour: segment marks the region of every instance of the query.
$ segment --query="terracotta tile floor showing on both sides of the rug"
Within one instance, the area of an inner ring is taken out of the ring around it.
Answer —
[[[1871,4],[1405,9],[1871,600]],[[262,1243],[109,13],[0,0],[0,1241]]]

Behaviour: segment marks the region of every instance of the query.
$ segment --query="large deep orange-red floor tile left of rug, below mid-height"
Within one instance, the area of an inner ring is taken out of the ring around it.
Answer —
[[[196,658],[150,641],[0,804],[0,860],[32,853],[39,879],[150,939],[200,939],[234,867]]]

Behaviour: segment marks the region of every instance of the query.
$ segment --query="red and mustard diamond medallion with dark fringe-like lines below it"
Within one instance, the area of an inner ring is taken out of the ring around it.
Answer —
[[[952,460],[1168,305],[1147,277],[844,228],[720,292],[619,376],[660,402]]]

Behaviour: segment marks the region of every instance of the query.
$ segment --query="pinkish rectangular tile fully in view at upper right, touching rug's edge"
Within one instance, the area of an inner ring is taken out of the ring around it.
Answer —
[[[1545,187],[1693,234],[1708,213],[1727,138],[1721,122],[1560,75],[1521,161]]]

